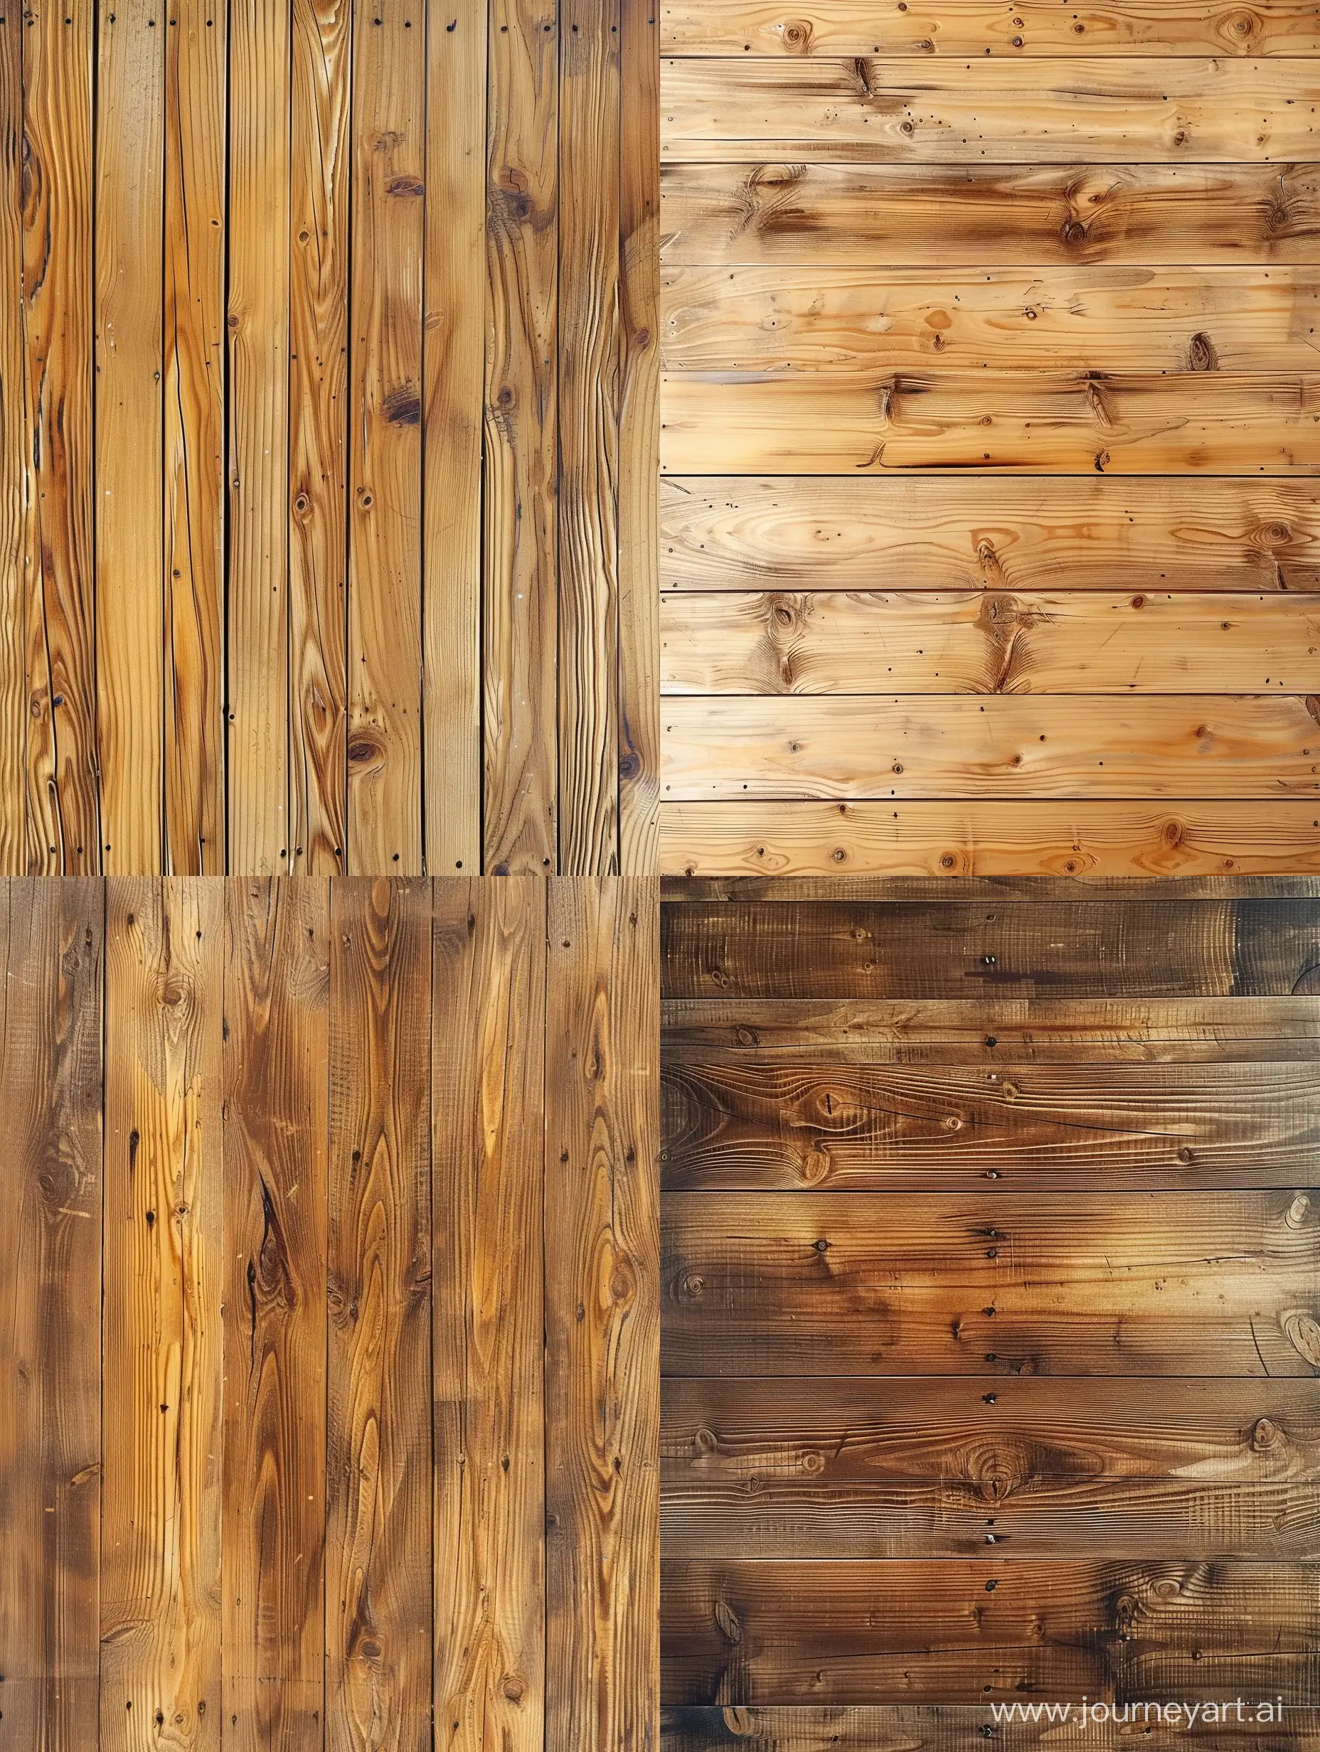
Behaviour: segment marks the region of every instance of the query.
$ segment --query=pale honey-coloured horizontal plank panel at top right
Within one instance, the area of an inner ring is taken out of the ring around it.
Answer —
[[[661,869],[1320,871],[1315,9],[661,26]]]

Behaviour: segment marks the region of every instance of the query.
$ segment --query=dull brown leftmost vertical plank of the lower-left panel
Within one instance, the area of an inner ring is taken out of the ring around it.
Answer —
[[[0,885],[0,1745],[96,1743],[102,885]]]

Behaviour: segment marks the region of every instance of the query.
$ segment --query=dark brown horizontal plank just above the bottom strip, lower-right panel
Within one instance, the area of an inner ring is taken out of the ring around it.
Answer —
[[[677,1559],[661,1601],[670,1705],[1320,1701],[1301,1565]]]

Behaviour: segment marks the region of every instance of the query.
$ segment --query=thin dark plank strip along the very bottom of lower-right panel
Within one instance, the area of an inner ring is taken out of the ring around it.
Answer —
[[[1248,1685],[1255,1698],[1255,1691]],[[1029,1699],[1024,1699],[1031,1708]],[[1252,1708],[1255,1710],[1255,1701]],[[1269,1703],[1273,1710],[1273,1699]],[[1215,1752],[1320,1752],[1320,1715],[1315,1710],[1290,1710],[1285,1738],[1269,1726],[1259,1727],[1252,1717],[1222,1722],[1218,1703],[1206,1720],[1189,1722],[1171,1712],[1145,1719],[1138,1710],[1141,1752],[1183,1752],[1187,1745],[1213,1747]],[[1118,1708],[1122,1720],[1122,1706]],[[1129,1710],[1131,1722],[1131,1710]],[[1080,1712],[1075,1722],[1061,1722],[1041,1712],[1011,1726],[1013,1752],[1054,1752],[1059,1734],[1068,1734],[1069,1752],[1113,1752],[1113,1715],[1103,1703],[1099,1719]],[[1132,1729],[1129,1729],[1132,1731]],[[729,1705],[677,1705],[661,1710],[661,1752],[968,1752],[983,1740],[994,1743],[1004,1726],[994,1705],[959,1703],[799,1703],[747,1708]]]

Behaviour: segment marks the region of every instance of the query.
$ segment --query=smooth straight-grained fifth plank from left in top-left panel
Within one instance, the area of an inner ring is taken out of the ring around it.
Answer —
[[[289,4],[230,5],[230,869],[289,867]]]

